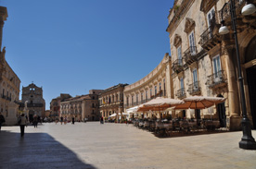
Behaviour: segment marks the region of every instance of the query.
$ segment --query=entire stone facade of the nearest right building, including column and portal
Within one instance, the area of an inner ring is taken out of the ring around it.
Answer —
[[[234,36],[232,31],[229,35],[225,36],[221,36],[218,33],[221,26],[220,10],[222,10],[224,3],[226,2],[229,1],[184,0],[180,5],[183,7],[183,11],[174,10],[174,6],[176,5],[174,4],[173,9],[170,10],[170,15],[168,16],[169,26],[167,31],[170,33],[172,62],[175,63],[175,61],[178,59],[177,48],[179,46],[181,46],[181,54],[183,57],[182,70],[180,69],[178,71],[174,71],[177,70],[178,66],[172,66],[173,91],[175,94],[174,98],[182,99],[195,94],[191,94],[187,90],[189,89],[189,85],[193,83],[192,71],[194,68],[197,68],[198,81],[201,88],[198,94],[203,96],[224,96],[224,98],[226,98],[224,103],[226,126],[232,130],[236,130],[240,127],[241,101],[239,99],[239,88],[237,84],[237,58]],[[255,4],[256,1],[253,1],[253,3]],[[239,30],[237,36],[242,64],[245,63],[244,58],[246,55],[247,46],[250,44],[252,38],[256,36],[255,29],[251,29],[251,26],[245,27],[247,24],[255,26],[255,18],[251,18],[249,21],[241,16],[240,10],[243,6],[244,2],[237,4],[237,29]],[[207,20],[207,15],[212,7],[215,10],[215,22],[212,24],[211,29],[207,30],[210,26]],[[228,11],[224,11],[224,20],[228,28],[231,30],[232,24],[230,14],[226,15],[225,12]],[[191,22],[191,20],[193,21]],[[189,63],[186,60],[186,52],[190,45],[188,35],[191,31],[194,32],[194,40],[197,47],[198,58],[193,60],[192,63]],[[209,34],[207,34],[207,32],[209,32]],[[204,50],[204,52],[202,50]],[[212,75],[214,73],[213,58],[218,54],[220,55],[221,60],[221,75],[224,80],[221,81],[220,84],[211,85],[211,78],[213,77]],[[245,66],[242,66],[243,77],[246,77],[246,68],[251,66],[254,66],[252,61],[245,64]],[[183,97],[180,97],[178,92],[181,89],[181,78],[184,78],[184,87],[186,92],[186,95]],[[250,116],[250,94],[246,80],[247,79],[245,78],[245,94],[248,109],[247,113]],[[209,118],[211,115],[213,118],[219,118],[217,106],[212,106],[209,109],[201,110],[201,117]],[[186,117],[195,117],[194,111],[186,110]]]

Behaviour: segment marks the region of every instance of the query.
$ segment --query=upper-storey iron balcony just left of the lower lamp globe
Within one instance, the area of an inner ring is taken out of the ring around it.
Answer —
[[[215,17],[211,19],[211,26],[204,30],[204,32],[200,35],[201,39],[199,44],[206,51],[211,50],[214,46],[222,42],[221,36],[218,33],[220,28],[220,24],[216,24]]]

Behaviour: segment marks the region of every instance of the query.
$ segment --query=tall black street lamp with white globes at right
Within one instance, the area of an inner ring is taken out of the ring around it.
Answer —
[[[228,3],[225,3],[224,6],[226,6]],[[240,56],[239,56],[239,48],[237,43],[237,15],[236,15],[236,6],[235,6],[235,0],[230,0],[229,3],[229,9],[232,19],[232,26],[234,30],[234,37],[236,42],[236,51],[237,51],[237,70],[238,70],[238,80],[239,80],[239,87],[240,87],[240,96],[241,96],[241,104],[242,104],[242,130],[243,130],[243,137],[239,142],[239,148],[246,149],[246,150],[256,150],[256,142],[253,139],[251,135],[251,128],[250,128],[250,120],[247,116],[247,110],[246,110],[246,102],[245,102],[245,91],[244,91],[244,82],[241,74],[241,66],[240,66]],[[224,26],[224,20],[223,20],[223,10],[222,8],[222,27],[219,30],[220,34],[227,34],[229,30],[226,26]],[[248,4],[248,1],[246,1],[246,6],[242,8],[242,15],[250,15],[253,14],[256,11],[256,7],[253,4]]]

